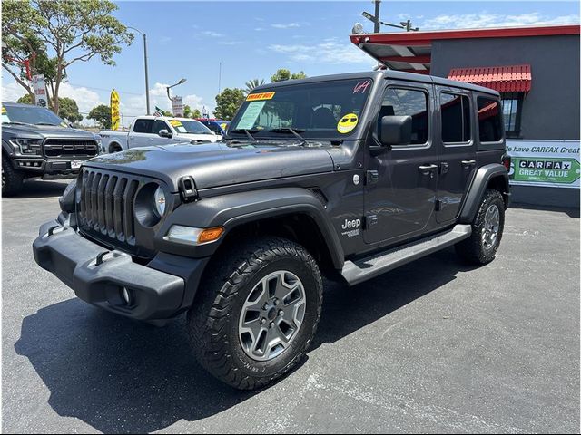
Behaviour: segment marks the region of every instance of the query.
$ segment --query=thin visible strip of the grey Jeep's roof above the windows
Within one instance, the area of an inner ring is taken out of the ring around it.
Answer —
[[[454,80],[443,79],[441,77],[436,77],[433,75],[426,74],[416,74],[416,73],[402,73],[400,71],[394,70],[382,70],[382,71],[366,71],[362,73],[343,73],[343,74],[331,74],[331,75],[320,75],[316,77],[308,77],[306,79],[295,79],[288,80],[284,82],[274,82],[263,84],[254,88],[252,92],[256,91],[266,91],[272,88],[278,88],[281,86],[289,84],[301,84],[301,83],[314,83],[314,82],[329,82],[331,80],[345,80],[345,79],[397,79],[409,82],[421,82],[421,83],[434,83],[443,86],[453,86],[460,89],[466,89],[468,91],[477,91],[483,93],[489,93],[491,95],[498,96],[499,93],[493,89],[485,88],[484,86],[478,86],[476,84],[466,83],[466,82],[456,82]]]

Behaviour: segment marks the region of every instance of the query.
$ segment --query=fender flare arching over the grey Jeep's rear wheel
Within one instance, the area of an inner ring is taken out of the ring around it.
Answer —
[[[508,204],[507,197],[508,195],[510,195],[510,188],[508,186],[507,169],[499,163],[491,163],[489,165],[485,165],[482,168],[478,169],[476,175],[474,176],[474,179],[472,179],[472,183],[470,183],[470,187],[468,188],[468,195],[466,196],[464,206],[462,207],[462,211],[460,212],[458,223],[460,224],[472,223],[472,221],[476,217],[478,207],[480,206],[480,201],[482,200],[484,191],[487,189],[488,183],[492,179],[497,178],[502,179],[504,191],[501,193],[502,196],[505,198],[505,205]]]

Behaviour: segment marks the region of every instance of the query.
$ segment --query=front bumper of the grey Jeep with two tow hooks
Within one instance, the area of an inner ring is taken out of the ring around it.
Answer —
[[[39,266],[85,302],[138,320],[168,319],[184,311],[193,299],[192,292],[186,297],[186,289],[195,293],[205,266],[205,261],[195,260],[186,266],[182,257],[165,254],[143,266],[133,262],[132,256],[109,251],[79,236],[67,222],[57,221],[40,228],[33,251]],[[123,288],[131,295],[129,304],[123,299]]]

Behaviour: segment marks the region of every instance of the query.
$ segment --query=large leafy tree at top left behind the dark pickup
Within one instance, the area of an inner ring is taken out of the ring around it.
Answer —
[[[25,60],[35,53],[33,72],[44,74],[52,109],[58,113],[59,90],[71,64],[99,56],[104,64],[114,65],[113,55],[133,42],[133,34],[113,16],[115,10],[117,5],[109,0],[5,0],[3,68],[32,96],[23,79],[24,66],[9,58]]]

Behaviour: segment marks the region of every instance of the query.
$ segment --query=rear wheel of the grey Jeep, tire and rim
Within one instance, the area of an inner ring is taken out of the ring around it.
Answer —
[[[505,202],[498,190],[487,189],[472,223],[472,235],[456,245],[468,263],[486,265],[494,260],[505,227]]]

